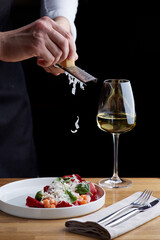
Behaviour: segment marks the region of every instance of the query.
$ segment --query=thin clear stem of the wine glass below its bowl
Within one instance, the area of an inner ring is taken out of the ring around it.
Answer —
[[[114,147],[114,168],[113,168],[113,181],[121,181],[118,176],[118,143],[119,143],[119,133],[113,133],[113,147]]]

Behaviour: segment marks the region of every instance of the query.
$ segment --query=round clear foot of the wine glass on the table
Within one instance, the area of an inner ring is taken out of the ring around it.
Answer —
[[[132,181],[128,179],[113,180],[112,178],[103,178],[99,182],[103,188],[127,188],[132,185]]]

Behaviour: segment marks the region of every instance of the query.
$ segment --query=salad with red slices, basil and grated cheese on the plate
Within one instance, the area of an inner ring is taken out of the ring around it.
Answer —
[[[26,199],[28,207],[61,208],[90,203],[97,200],[93,183],[86,182],[78,174],[66,175],[53,180],[50,185],[38,191],[35,198]]]

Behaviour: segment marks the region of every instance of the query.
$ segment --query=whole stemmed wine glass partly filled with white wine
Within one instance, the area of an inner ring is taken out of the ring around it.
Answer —
[[[126,79],[107,79],[103,82],[99,100],[98,127],[113,136],[114,169],[113,176],[101,179],[99,184],[107,188],[124,188],[132,184],[118,176],[118,141],[121,133],[132,130],[136,125],[135,103],[132,87]]]

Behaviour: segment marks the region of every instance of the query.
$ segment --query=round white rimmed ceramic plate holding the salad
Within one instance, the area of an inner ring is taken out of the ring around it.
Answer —
[[[15,181],[0,188],[0,210],[24,218],[60,219],[89,214],[100,209],[105,203],[105,191],[95,184],[98,199],[94,202],[66,208],[29,208],[27,196],[34,197],[36,192],[49,185],[55,178],[32,178]]]

